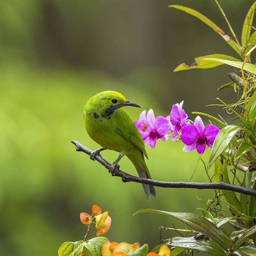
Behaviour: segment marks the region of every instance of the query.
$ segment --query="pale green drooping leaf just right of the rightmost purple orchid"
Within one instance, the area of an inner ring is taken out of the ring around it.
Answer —
[[[207,164],[207,170],[209,170],[215,160],[221,155],[225,148],[227,148],[230,140],[233,138],[236,132],[240,130],[244,130],[244,128],[238,125],[228,125],[220,130],[212,145],[212,150]]]

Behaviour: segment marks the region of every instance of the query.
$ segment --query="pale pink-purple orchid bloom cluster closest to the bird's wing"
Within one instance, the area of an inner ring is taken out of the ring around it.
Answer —
[[[148,110],[147,117],[146,110],[142,111],[140,120],[134,121],[134,124],[138,128],[145,146],[150,145],[151,148],[155,148],[157,139],[168,140],[166,133],[171,131],[170,122],[164,116],[155,118],[153,109]]]

